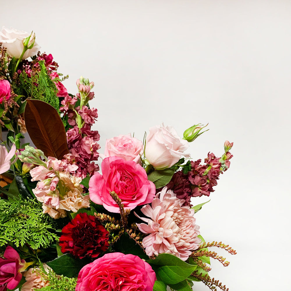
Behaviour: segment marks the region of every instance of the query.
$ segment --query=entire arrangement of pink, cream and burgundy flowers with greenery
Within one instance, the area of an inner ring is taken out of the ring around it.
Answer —
[[[94,83],[80,77],[69,94],[34,33],[3,27],[0,42],[0,290],[228,290],[209,276],[210,258],[229,264],[210,248],[235,251],[205,242],[205,203],[192,203],[214,191],[233,143],[192,161],[205,126],[180,138],[162,123],[144,141],[107,139],[101,154]]]

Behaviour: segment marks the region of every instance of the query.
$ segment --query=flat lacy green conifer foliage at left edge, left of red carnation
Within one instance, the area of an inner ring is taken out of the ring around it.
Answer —
[[[0,200],[0,246],[9,243],[16,247],[29,244],[32,249],[46,248],[58,239],[42,214],[41,204],[37,201]]]

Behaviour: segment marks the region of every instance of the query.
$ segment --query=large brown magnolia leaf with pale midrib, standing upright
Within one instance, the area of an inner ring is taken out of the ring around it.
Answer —
[[[24,120],[32,142],[45,156],[61,160],[69,153],[65,127],[54,107],[27,99]]]

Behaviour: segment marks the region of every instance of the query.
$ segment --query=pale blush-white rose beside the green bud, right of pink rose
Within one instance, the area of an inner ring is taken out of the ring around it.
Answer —
[[[188,141],[181,139],[174,127],[162,123],[149,130],[145,143],[145,158],[155,169],[170,168],[182,156],[190,157],[184,153],[189,147]]]

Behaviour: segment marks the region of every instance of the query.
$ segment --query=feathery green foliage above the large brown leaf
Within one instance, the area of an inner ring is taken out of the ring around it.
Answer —
[[[32,68],[31,77],[26,72],[19,74],[19,85],[15,91],[18,95],[26,95],[47,102],[58,110],[59,99],[56,95],[58,92],[56,85],[47,74],[44,61],[39,61],[38,64],[38,70]]]

